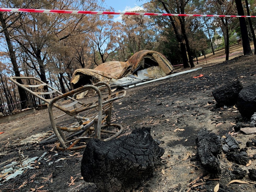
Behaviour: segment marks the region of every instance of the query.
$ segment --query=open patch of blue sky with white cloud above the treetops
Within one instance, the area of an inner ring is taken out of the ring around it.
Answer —
[[[104,3],[108,7],[113,7],[115,12],[129,12],[129,11],[134,11],[138,12],[140,10],[140,5],[143,5],[146,0],[143,1],[138,1],[138,0],[105,0]],[[115,21],[121,21],[122,18],[119,15],[115,15],[114,17]]]

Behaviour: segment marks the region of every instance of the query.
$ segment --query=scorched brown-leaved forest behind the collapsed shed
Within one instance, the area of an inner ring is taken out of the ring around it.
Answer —
[[[136,12],[256,15],[255,0],[143,0]],[[2,0],[1,8],[115,11],[98,0]],[[36,105],[36,98],[9,81],[31,76],[66,93],[79,68],[93,69],[107,61],[126,61],[148,49],[172,65],[194,67],[194,59],[240,39],[244,54],[256,45],[256,19],[0,12],[0,112]],[[242,29],[242,30],[241,30]],[[255,53],[254,53],[255,54]],[[20,82],[21,83],[21,82]]]

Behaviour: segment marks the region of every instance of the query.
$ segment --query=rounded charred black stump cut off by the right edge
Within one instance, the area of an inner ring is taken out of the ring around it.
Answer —
[[[251,119],[256,112],[256,84],[243,88],[238,95],[237,109],[242,117]]]

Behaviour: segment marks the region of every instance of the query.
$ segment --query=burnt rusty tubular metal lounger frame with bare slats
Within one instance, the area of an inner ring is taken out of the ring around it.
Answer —
[[[15,81],[17,79],[34,80],[35,82],[40,83],[40,84],[35,84],[35,83],[33,85],[20,84],[17,81]],[[14,84],[18,85],[19,87],[25,89],[25,91],[31,93],[38,99],[41,99],[44,102],[48,103],[49,118],[50,118],[50,122],[51,122],[51,125],[52,125],[55,135],[52,135],[51,137],[45,139],[41,143],[59,140],[59,143],[56,145],[57,149],[59,149],[59,150],[67,150],[67,149],[68,150],[77,150],[77,149],[85,148],[86,145],[82,145],[82,146],[74,146],[74,145],[76,145],[80,141],[80,139],[92,138],[90,136],[85,137],[86,134],[91,133],[92,131],[95,132],[94,138],[97,138],[97,139],[101,139],[101,133],[113,134],[111,137],[104,139],[104,141],[116,138],[123,131],[123,127],[121,125],[111,124],[111,114],[112,114],[112,102],[117,99],[121,99],[121,98],[125,97],[126,91],[119,91],[117,93],[112,94],[109,84],[107,84],[105,82],[98,82],[93,85],[85,85],[85,86],[79,87],[77,89],[74,89],[72,91],[69,91],[69,92],[63,94],[35,77],[10,77],[10,81],[12,81]],[[51,91],[34,92],[31,89],[29,89],[29,88],[40,88],[43,86],[48,87],[48,89],[51,89]],[[107,89],[108,89],[107,97],[104,97],[104,98],[102,97],[101,91],[99,90],[99,86],[107,87]],[[98,96],[98,100],[90,102],[90,103],[83,103],[83,102],[75,99],[78,94],[85,92],[87,90],[90,90],[90,89],[92,89],[96,92],[96,94]],[[59,96],[57,96],[51,100],[45,99],[44,97],[40,96],[40,95],[46,95],[46,94],[52,94],[52,93],[58,93]],[[72,97],[72,95],[73,95],[73,97]],[[64,98],[68,98],[72,102],[68,105],[62,105],[62,106],[57,104],[57,101],[64,99]],[[79,106],[77,106],[77,105],[79,105]],[[72,106],[73,106],[73,109],[68,109]],[[53,107],[63,111],[65,114],[60,115],[58,117],[54,117]],[[97,113],[91,114],[91,116],[89,115],[88,117],[80,116],[80,113],[85,112],[87,110],[93,110],[93,109],[96,109]],[[57,126],[55,119],[62,117],[66,114],[69,116],[73,116],[78,122],[73,126],[71,126],[71,125],[66,126],[66,127]],[[106,123],[106,124],[104,125],[104,123]],[[107,126],[118,127],[119,131],[116,132],[116,131],[108,131],[108,130],[102,129]],[[68,134],[67,136],[65,136],[64,132],[65,133],[71,132],[71,133]],[[52,139],[55,136],[57,137],[57,139]],[[76,136],[78,136],[78,137],[75,139],[71,139]],[[50,140],[50,138],[51,138],[51,140]],[[69,140],[69,139],[71,139],[71,140]],[[68,146],[67,144],[71,143],[71,142],[73,142],[73,143]]]

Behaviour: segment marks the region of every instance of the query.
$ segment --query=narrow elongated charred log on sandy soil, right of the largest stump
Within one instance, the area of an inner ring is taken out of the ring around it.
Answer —
[[[221,140],[215,133],[206,129],[199,131],[196,138],[198,156],[204,169],[209,173],[220,172]]]

